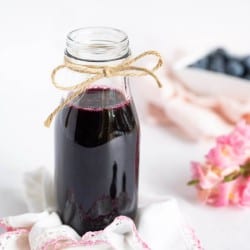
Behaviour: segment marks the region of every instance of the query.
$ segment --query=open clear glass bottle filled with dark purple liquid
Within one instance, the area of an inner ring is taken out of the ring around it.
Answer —
[[[130,55],[121,30],[82,28],[67,36],[77,64],[115,65]],[[129,77],[103,78],[64,107],[55,122],[55,185],[63,223],[79,234],[137,210],[139,122]]]

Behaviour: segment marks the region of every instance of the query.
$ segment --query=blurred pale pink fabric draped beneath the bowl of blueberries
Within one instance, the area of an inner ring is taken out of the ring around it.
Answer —
[[[249,119],[250,101],[200,96],[188,89],[171,69],[181,56],[182,52],[175,53],[159,73],[163,88],[157,88],[149,78],[144,78],[143,84],[141,79],[133,84],[142,119],[194,141],[213,139],[229,132],[239,120]]]

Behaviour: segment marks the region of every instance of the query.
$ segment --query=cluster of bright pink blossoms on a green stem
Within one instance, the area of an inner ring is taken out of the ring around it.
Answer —
[[[214,206],[250,206],[250,125],[240,122],[228,135],[216,139],[205,162],[192,162],[199,198]]]

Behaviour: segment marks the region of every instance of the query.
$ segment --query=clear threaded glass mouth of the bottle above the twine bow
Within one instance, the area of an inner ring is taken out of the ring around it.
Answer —
[[[73,60],[108,62],[130,55],[126,33],[110,27],[87,27],[67,35],[65,55]]]

